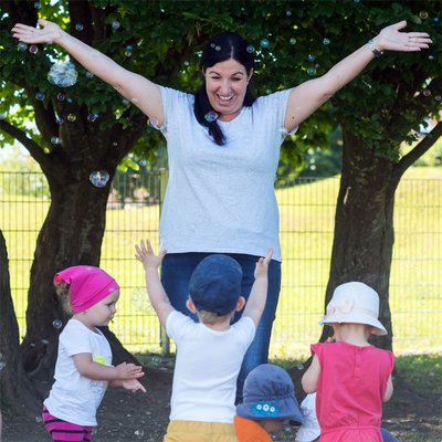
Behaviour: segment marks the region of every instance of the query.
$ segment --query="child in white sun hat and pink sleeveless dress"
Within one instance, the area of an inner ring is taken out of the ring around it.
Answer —
[[[368,341],[371,334],[387,334],[378,315],[377,292],[349,282],[336,287],[319,322],[333,327],[335,341],[312,346],[302,383],[306,393],[317,392],[320,442],[382,442],[382,401],[393,391],[394,357]]]

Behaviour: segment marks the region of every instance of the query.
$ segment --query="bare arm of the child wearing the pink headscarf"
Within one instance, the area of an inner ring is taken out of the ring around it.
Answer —
[[[137,379],[145,373],[143,367],[135,364],[123,362],[116,367],[94,362],[90,352],[81,352],[73,356],[76,369],[86,378],[94,380]]]

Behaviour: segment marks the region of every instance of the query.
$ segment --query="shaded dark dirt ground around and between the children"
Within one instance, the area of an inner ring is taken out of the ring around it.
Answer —
[[[147,394],[131,394],[122,389],[109,389],[98,411],[95,442],[161,442],[169,415],[172,369],[146,368],[143,380]],[[401,442],[442,441],[442,399],[415,397],[396,390],[386,406],[383,427]],[[284,428],[274,441],[294,441],[295,428]],[[46,434],[40,417],[8,418],[3,415],[1,442],[45,442]]]

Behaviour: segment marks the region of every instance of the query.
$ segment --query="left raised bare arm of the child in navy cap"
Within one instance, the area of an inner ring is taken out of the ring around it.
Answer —
[[[167,252],[164,250],[156,255],[149,240],[146,243],[141,240],[139,245],[135,245],[135,249],[137,251],[135,257],[145,267],[146,288],[150,303],[157,313],[159,322],[166,326],[167,317],[175,311],[158,275],[158,267],[161,265]]]

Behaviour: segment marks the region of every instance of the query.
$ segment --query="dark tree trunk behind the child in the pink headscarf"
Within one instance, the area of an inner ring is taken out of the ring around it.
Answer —
[[[99,266],[106,203],[117,161],[102,160],[96,168],[88,161],[87,157],[65,156],[63,160],[52,158],[51,167],[45,165],[51,206],[36,240],[28,294],[28,328],[22,343],[24,368],[33,379],[52,380],[57,337],[63,328],[59,324],[61,320],[64,326],[69,319],[55,295],[55,273],[71,265]],[[105,187],[91,183],[93,170],[109,173]],[[114,364],[134,359],[113,334],[106,333],[106,336],[113,348]]]

